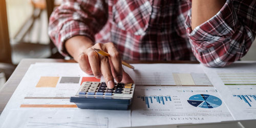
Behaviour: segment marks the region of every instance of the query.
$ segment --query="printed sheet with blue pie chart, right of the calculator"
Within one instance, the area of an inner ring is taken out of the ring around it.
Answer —
[[[134,65],[132,126],[233,120],[200,65]]]

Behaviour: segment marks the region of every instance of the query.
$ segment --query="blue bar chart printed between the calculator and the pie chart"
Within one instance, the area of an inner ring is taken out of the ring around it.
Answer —
[[[150,108],[150,104],[153,103],[160,103],[162,105],[165,105],[165,102],[172,101],[172,98],[170,98],[170,96],[138,96],[137,98],[140,98],[142,101],[144,101],[147,105],[147,108]]]

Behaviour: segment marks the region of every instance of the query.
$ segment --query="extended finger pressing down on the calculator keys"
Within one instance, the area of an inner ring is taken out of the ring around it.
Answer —
[[[106,85],[108,86],[108,88],[113,89],[115,87],[115,84],[113,75],[111,73],[109,58],[106,56],[100,56],[100,58],[100,69],[106,81]]]

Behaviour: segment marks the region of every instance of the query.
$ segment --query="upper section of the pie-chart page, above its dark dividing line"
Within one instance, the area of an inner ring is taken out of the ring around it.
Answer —
[[[134,64],[135,70],[124,67],[136,85],[143,86],[212,86],[200,65]]]

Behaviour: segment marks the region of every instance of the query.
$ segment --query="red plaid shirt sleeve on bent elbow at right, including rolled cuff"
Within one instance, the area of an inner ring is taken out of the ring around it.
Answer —
[[[256,30],[255,2],[228,0],[205,23],[191,30],[191,10],[185,21],[196,58],[208,67],[230,65],[249,50]]]

